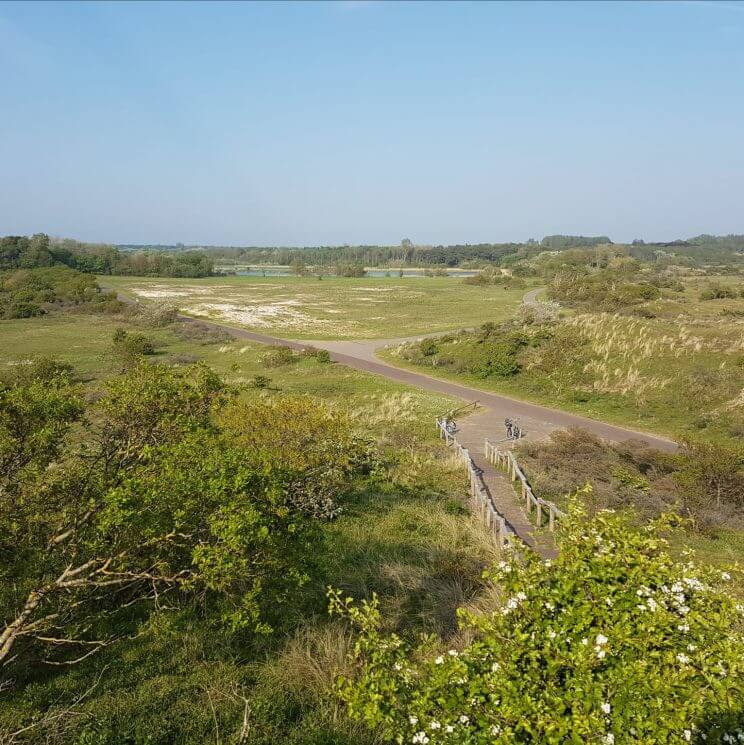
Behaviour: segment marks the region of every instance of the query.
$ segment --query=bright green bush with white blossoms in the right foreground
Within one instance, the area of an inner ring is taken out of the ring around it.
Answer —
[[[490,573],[499,608],[461,611],[459,649],[412,648],[383,634],[376,600],[332,591],[361,629],[337,686],[350,715],[422,745],[744,742],[744,608],[730,573],[670,556],[668,522],[587,522],[574,504],[552,564],[514,551]]]

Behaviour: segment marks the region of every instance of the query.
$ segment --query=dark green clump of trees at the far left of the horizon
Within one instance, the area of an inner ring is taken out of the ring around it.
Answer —
[[[0,238],[0,271],[64,265],[86,274],[121,274],[140,277],[208,277],[214,261],[203,251],[122,252],[103,243],[31,237]]]

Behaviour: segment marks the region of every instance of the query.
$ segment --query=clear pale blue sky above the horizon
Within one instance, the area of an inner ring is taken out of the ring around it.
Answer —
[[[0,3],[0,234],[744,232],[744,4]]]

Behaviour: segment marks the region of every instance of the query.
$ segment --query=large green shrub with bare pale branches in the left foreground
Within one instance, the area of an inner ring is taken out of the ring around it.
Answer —
[[[339,415],[309,399],[225,408],[236,392],[203,366],[141,363],[87,410],[67,369],[35,369],[0,383],[8,674],[95,652],[165,608],[268,632],[307,580],[312,518],[375,468]]]

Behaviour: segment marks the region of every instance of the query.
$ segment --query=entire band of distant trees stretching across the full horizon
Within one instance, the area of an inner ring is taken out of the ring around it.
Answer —
[[[644,262],[682,263],[690,266],[739,267],[744,262],[744,235],[699,235],[668,243],[613,244],[607,236],[549,235],[525,243],[477,243],[449,246],[417,246],[406,239],[398,246],[111,246],[50,239],[39,233],[0,238],[0,271],[65,265],[88,274],[119,274],[142,277],[208,277],[215,264],[344,267],[342,276],[359,276],[369,267],[512,268],[530,274],[535,257],[552,254],[568,258],[571,252],[619,251]],[[546,254],[546,252],[549,252]],[[334,273],[334,271],[331,271]]]

